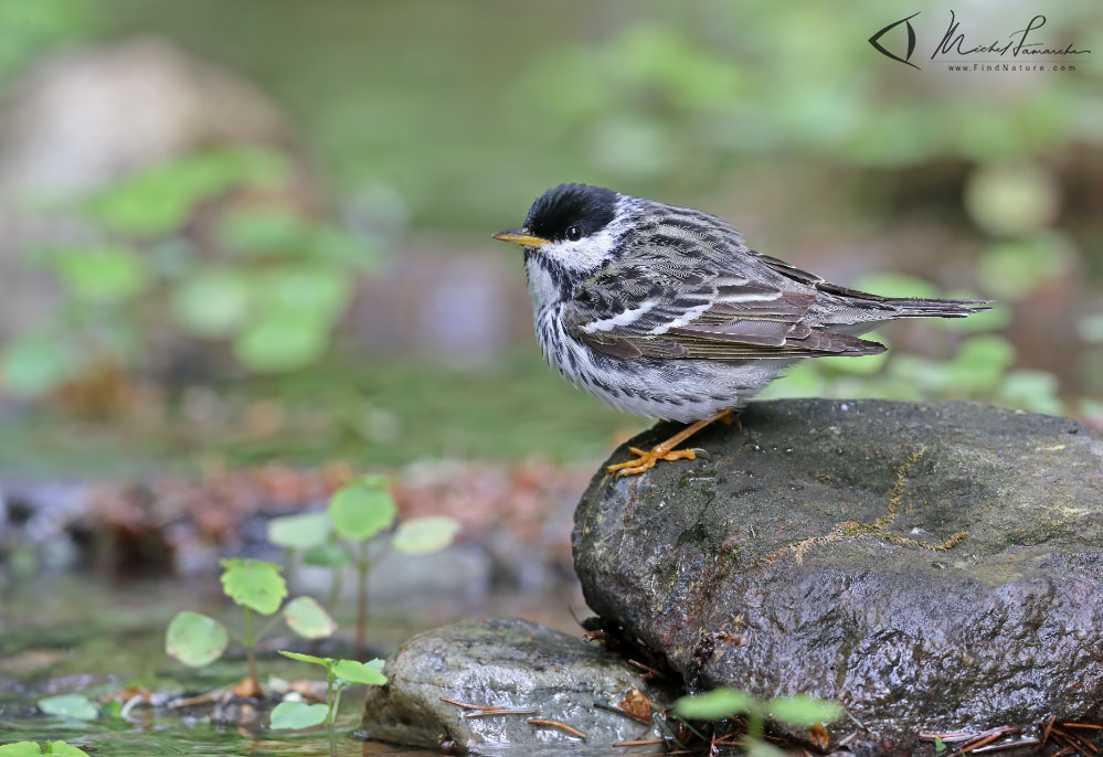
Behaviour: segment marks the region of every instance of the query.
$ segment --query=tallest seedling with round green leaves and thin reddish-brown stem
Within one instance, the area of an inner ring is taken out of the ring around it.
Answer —
[[[368,635],[368,575],[385,556],[385,550],[373,555],[371,542],[394,529],[397,516],[386,479],[365,476],[337,491],[326,513],[278,518],[268,527],[268,539],[287,550],[290,561],[301,554],[306,564],[333,572],[330,606],[336,601],[344,565],[356,569],[358,653],[363,652]],[[437,552],[452,544],[458,529],[450,518],[413,518],[399,523],[386,548],[406,555]]]

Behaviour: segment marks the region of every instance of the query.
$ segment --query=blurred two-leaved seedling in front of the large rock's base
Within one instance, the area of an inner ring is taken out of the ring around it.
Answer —
[[[800,728],[832,723],[844,715],[835,702],[797,694],[761,702],[745,691],[714,689],[704,694],[682,696],[675,715],[687,721],[721,721],[742,715],[746,722],[746,753],[753,757],[781,757],[784,753],[763,740],[767,719]]]

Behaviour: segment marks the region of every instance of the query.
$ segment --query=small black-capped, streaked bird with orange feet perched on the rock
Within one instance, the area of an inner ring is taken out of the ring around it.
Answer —
[[[722,218],[602,186],[560,184],[521,228],[537,341],[570,382],[621,411],[686,424],[609,465],[633,476],[678,449],[805,358],[861,356],[861,339],[902,318],[965,318],[989,300],[881,297],[831,284],[752,249]]]

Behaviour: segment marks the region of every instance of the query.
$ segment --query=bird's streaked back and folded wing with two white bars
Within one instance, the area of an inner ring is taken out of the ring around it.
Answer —
[[[564,306],[575,339],[622,360],[877,354],[884,346],[814,316],[823,279],[752,253],[714,216],[674,209],[657,231],[591,277]]]

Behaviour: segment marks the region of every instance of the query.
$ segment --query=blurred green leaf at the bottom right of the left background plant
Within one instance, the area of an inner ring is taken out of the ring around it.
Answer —
[[[331,327],[325,318],[294,310],[265,312],[237,334],[234,354],[253,371],[294,371],[321,358]]]

